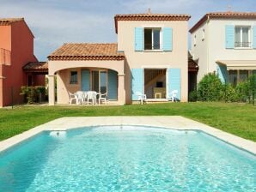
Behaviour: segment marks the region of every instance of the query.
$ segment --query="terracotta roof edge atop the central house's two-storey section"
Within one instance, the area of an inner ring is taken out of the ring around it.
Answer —
[[[190,15],[151,13],[115,15],[115,31],[118,33],[118,21],[188,21],[190,17]]]

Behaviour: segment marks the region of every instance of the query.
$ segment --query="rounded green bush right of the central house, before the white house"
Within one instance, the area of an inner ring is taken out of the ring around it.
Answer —
[[[221,98],[222,82],[215,73],[204,75],[198,83],[198,100],[218,101]]]

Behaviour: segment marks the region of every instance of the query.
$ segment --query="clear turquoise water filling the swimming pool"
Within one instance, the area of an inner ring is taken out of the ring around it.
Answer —
[[[0,153],[0,191],[255,191],[256,158],[210,135],[113,126]]]

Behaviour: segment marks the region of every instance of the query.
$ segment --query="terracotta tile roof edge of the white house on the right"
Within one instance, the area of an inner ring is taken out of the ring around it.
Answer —
[[[208,19],[256,19],[256,12],[211,12],[205,14],[190,30],[193,33],[198,27],[200,27],[204,21]]]

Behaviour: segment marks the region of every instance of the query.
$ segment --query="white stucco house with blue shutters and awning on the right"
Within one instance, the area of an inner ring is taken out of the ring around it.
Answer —
[[[256,74],[256,13],[207,13],[189,32],[198,81],[215,71],[223,83],[235,85]]]

